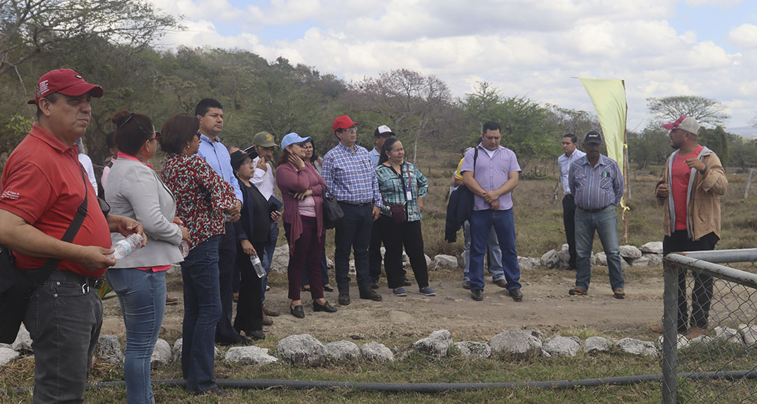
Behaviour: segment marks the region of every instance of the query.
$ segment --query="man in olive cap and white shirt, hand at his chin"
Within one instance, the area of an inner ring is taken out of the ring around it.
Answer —
[[[257,152],[257,157],[254,158],[252,164],[255,167],[255,174],[250,179],[250,182],[257,187],[260,193],[265,196],[266,199],[270,199],[273,196],[273,190],[276,186],[276,179],[273,177],[273,168],[271,168],[270,161],[273,159],[273,151],[277,146],[274,142],[273,135],[268,132],[259,132],[255,134],[252,139],[252,147]],[[263,302],[266,300],[266,287],[268,286],[268,273],[271,270],[271,260],[273,259],[273,250],[276,249],[276,240],[279,239],[279,223],[278,221],[271,222],[271,229],[269,233],[269,240],[265,244],[263,250],[263,256],[260,258],[260,263],[263,264],[263,268],[266,270],[266,276],[263,277],[261,287],[263,287]],[[263,305],[263,325],[273,324],[267,316],[277,316],[279,312],[271,310]]]

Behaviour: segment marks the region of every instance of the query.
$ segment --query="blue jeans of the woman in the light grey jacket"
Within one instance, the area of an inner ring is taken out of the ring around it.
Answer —
[[[150,359],[166,308],[166,272],[111,268],[105,279],[118,296],[126,325],[126,402],[154,403]]]

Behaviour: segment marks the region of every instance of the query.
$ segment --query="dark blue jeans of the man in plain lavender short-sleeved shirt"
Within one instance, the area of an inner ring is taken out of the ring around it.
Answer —
[[[472,211],[470,218],[470,279],[471,290],[484,289],[484,254],[488,245],[489,233],[494,227],[497,240],[500,242],[500,257],[502,258],[502,271],[507,284],[506,290],[520,289],[520,267],[518,266],[518,253],[516,252],[516,224],[512,216],[512,209],[506,211]]]

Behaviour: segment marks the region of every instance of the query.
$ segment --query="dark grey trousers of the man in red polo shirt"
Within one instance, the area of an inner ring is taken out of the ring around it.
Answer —
[[[102,302],[83,277],[53,271],[30,293],[23,324],[34,349],[34,402],[83,402]]]

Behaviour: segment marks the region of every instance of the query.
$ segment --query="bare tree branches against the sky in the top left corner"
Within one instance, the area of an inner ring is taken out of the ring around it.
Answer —
[[[100,36],[139,49],[181,28],[147,0],[0,0],[0,74],[67,39]]]

